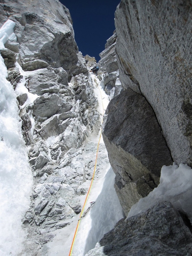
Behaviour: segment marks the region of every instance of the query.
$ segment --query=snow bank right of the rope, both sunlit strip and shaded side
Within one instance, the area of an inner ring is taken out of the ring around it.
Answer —
[[[114,179],[115,174],[109,168],[104,177],[94,181],[89,201],[95,203],[80,222],[72,256],[84,256],[118,220],[123,218],[122,208],[114,189]]]

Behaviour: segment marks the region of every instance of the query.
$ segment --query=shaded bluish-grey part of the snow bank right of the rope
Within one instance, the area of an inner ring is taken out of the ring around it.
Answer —
[[[94,248],[103,235],[113,229],[117,221],[124,217],[114,189],[114,181],[115,173],[110,168],[105,175],[102,191],[90,211],[91,229],[86,239],[84,254]]]

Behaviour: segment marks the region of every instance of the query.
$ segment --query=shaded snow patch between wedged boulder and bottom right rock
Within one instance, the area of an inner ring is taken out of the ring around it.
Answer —
[[[159,201],[170,201],[192,223],[192,169],[185,164],[163,166],[160,183],[147,197],[132,206],[128,218],[146,211]]]

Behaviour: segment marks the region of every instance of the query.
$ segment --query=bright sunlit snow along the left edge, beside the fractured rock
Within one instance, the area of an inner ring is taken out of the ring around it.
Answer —
[[[0,29],[0,47],[13,37],[13,21]],[[25,232],[21,219],[29,208],[32,173],[21,133],[21,119],[13,86],[0,55],[0,255],[17,256]]]

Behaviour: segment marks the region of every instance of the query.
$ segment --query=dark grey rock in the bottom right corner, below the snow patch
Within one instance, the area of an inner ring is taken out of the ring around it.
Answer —
[[[121,220],[86,256],[181,256],[192,254],[192,233],[171,203]]]

